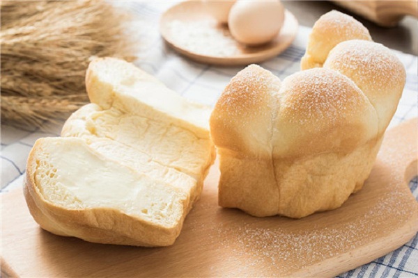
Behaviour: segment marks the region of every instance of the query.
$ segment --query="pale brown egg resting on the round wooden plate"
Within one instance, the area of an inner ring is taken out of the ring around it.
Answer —
[[[280,1],[237,1],[229,12],[229,31],[238,42],[248,45],[273,40],[284,22]]]

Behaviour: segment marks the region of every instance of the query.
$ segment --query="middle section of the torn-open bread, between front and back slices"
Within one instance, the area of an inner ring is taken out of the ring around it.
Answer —
[[[212,160],[212,141],[174,124],[87,104],[65,122],[61,136],[107,138],[130,147],[130,152],[152,154],[153,161],[188,174],[199,183]],[[140,143],[139,143],[140,142]]]

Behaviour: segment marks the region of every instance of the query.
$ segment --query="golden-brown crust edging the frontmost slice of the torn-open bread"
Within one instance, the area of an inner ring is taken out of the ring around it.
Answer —
[[[42,154],[42,139],[38,140],[27,161],[24,196],[33,219],[52,234],[75,236],[93,243],[134,246],[169,246],[174,243],[183,226],[161,227],[114,208],[69,209],[49,202],[36,181]]]

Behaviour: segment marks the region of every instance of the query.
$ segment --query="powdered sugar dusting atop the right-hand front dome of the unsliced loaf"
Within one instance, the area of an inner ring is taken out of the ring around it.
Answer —
[[[290,122],[350,120],[367,109],[366,99],[355,83],[337,72],[312,69],[284,80],[281,110]],[[370,107],[371,108],[371,107]]]

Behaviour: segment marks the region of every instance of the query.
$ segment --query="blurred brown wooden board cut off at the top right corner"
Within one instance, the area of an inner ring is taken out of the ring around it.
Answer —
[[[405,15],[418,18],[417,0],[333,0],[333,2],[380,26],[395,26]]]

